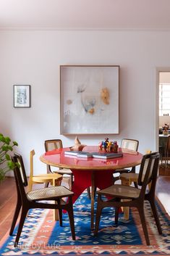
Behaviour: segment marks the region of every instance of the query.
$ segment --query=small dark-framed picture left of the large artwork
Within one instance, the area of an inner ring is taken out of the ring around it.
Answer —
[[[30,86],[14,86],[14,107],[30,107]]]

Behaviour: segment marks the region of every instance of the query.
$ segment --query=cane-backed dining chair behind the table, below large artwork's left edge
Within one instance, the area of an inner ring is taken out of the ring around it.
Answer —
[[[54,150],[54,149],[61,149],[63,148],[63,144],[61,139],[48,139],[44,142],[45,150],[46,152]],[[66,169],[66,168],[52,168],[50,165],[47,165],[47,173],[59,173],[64,178],[67,179],[67,182],[69,183],[69,189],[72,189],[72,183],[73,183],[73,175],[72,170]]]

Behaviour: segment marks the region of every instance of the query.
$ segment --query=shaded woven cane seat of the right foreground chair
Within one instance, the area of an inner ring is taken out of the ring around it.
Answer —
[[[122,185],[113,185],[109,186],[109,188],[102,189],[98,191],[98,194],[109,195],[113,197],[121,197],[122,199],[135,199],[139,197],[140,189],[136,189],[132,186],[122,186]]]

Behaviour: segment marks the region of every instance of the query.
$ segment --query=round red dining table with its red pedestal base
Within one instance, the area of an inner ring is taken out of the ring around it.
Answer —
[[[52,165],[58,168],[68,168],[72,170],[74,175],[74,183],[72,191],[75,195],[72,198],[73,202],[82,194],[89,186],[91,191],[91,228],[94,222],[94,193],[95,187],[105,189],[112,185],[114,170],[135,167],[140,165],[143,155],[133,152],[123,153],[123,157],[113,159],[100,158],[80,158],[64,154],[69,148],[54,149],[41,155],[40,160],[47,165]],[[98,146],[85,146],[85,152],[98,152]],[[119,149],[121,152],[121,149]]]

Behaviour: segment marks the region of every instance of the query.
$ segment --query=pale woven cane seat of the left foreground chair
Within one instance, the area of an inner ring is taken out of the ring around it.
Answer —
[[[39,200],[56,200],[60,199],[62,197],[70,197],[74,193],[72,191],[69,191],[64,186],[51,186],[44,189],[36,189],[33,191],[30,191],[27,193],[27,199],[33,200],[33,201],[39,201]]]

